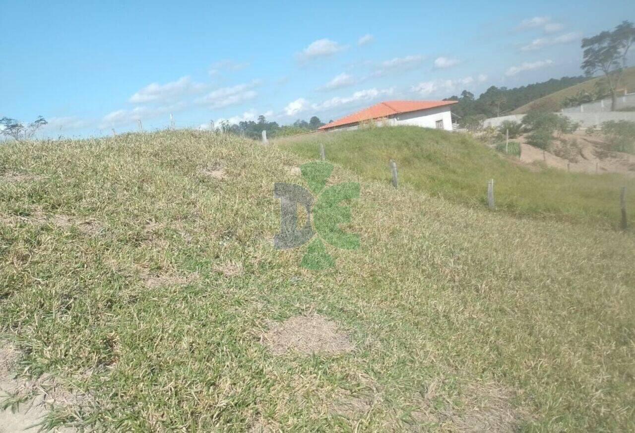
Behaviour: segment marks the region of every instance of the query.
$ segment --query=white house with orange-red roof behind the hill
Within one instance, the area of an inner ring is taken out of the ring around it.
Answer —
[[[319,128],[320,131],[356,130],[360,123],[378,126],[413,125],[452,130],[450,106],[457,101],[386,101],[342,117]]]

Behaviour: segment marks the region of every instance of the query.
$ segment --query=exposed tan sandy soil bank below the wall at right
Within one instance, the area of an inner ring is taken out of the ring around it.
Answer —
[[[562,138],[568,144],[554,140],[551,152],[528,145],[525,137],[514,141],[521,143],[522,163],[544,162],[549,167],[577,173],[621,173],[635,177],[635,155],[609,152],[601,137],[589,137],[582,131],[564,134]]]

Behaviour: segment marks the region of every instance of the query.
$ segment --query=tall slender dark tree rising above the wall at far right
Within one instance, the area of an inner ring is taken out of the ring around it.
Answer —
[[[582,39],[582,69],[587,76],[601,70],[611,93],[611,111],[617,108],[617,89],[626,67],[626,56],[635,42],[635,27],[623,21],[613,31],[605,30],[596,36]]]

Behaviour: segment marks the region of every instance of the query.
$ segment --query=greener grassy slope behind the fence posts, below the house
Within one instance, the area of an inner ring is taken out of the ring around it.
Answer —
[[[487,182],[493,178],[498,209],[514,215],[616,226],[620,187],[627,185],[629,203],[635,203],[633,178],[531,171],[469,135],[445,131],[376,128],[307,135],[281,146],[309,158],[319,154],[319,143],[324,143],[329,161],[364,178],[389,183],[388,164],[394,159],[402,185],[469,206],[485,206]],[[635,212],[629,218],[635,223]]]

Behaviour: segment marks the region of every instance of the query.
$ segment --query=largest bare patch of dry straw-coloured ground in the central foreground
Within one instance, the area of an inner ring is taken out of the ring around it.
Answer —
[[[337,323],[319,314],[272,323],[269,331],[262,335],[262,342],[276,355],[287,350],[334,355],[354,349],[351,336],[341,331]]]

